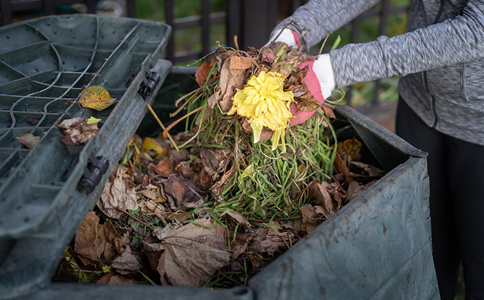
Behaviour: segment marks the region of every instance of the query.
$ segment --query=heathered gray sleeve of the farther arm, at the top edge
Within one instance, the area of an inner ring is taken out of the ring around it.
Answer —
[[[274,30],[281,30],[290,21],[288,28],[298,32],[306,50],[322,41],[329,32],[348,24],[379,0],[310,0],[300,6],[290,17],[284,19]]]

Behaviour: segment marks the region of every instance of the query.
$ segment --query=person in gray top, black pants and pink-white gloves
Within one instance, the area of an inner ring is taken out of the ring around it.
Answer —
[[[376,3],[310,0],[274,28],[270,41],[282,30],[277,41],[308,51]],[[319,102],[335,86],[400,76],[396,133],[429,153],[440,297],[454,299],[462,263],[465,298],[484,299],[484,1],[413,1],[403,35],[348,44],[306,64],[305,82]],[[291,125],[311,115],[292,111]]]

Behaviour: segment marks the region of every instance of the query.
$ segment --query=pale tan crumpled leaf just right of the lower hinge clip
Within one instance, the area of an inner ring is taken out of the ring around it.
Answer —
[[[108,180],[102,190],[100,200],[97,200],[97,207],[108,216],[109,218],[120,218],[122,212],[121,209],[138,209],[138,198],[136,191],[128,187],[126,179],[122,174],[126,173],[127,167],[118,165],[113,174],[115,174],[114,180]]]

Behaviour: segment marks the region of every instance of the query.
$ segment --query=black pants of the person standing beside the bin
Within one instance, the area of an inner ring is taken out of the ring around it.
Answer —
[[[484,147],[431,129],[401,98],[396,133],[429,153],[432,246],[440,297],[454,299],[462,262],[465,299],[484,299]]]

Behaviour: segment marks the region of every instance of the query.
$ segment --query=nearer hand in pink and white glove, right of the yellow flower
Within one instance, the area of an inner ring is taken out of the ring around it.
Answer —
[[[304,83],[308,86],[310,93],[322,104],[325,99],[331,96],[336,84],[331,58],[329,54],[318,55],[316,60],[303,62],[299,68],[305,66],[309,66],[309,70],[304,77]],[[295,103],[290,104],[290,111],[294,118],[291,118],[289,126],[304,123],[315,113],[315,111],[310,113],[301,111]]]

